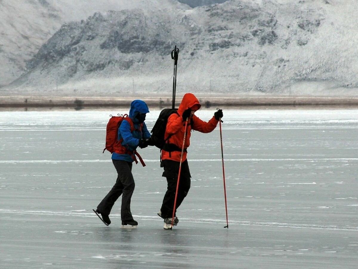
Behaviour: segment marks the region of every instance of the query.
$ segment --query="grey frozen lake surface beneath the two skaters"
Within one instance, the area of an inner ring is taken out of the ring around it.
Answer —
[[[166,180],[154,147],[133,168],[138,228],[120,228],[120,200],[108,227],[92,212],[115,183],[102,150],[121,112],[0,112],[1,268],[357,268],[358,110],[224,110],[229,229],[217,127],[192,133],[172,231],[156,215]]]

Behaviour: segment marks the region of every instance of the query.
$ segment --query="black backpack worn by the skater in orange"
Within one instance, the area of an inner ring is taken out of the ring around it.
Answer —
[[[168,118],[173,113],[178,114],[176,112],[177,110],[178,108],[164,108],[163,110],[161,110],[159,117],[153,126],[153,129],[150,131],[152,133],[151,137],[153,139],[154,146],[163,149],[166,140],[168,140],[170,137],[169,136],[166,140],[164,140],[165,129],[166,129],[166,124],[168,123]]]

